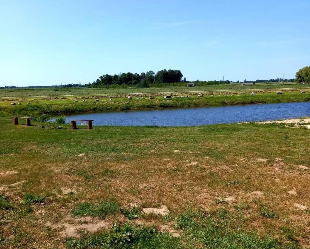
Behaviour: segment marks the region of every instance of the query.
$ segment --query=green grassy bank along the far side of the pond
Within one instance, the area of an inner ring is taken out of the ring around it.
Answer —
[[[138,95],[139,96],[139,95]],[[283,95],[277,95],[276,92],[256,93],[255,96],[246,94],[211,94],[204,97],[192,95],[189,98],[171,98],[164,99],[162,96],[155,96],[154,99],[148,97],[139,99],[134,97],[127,100],[127,97],[100,98],[100,101],[94,101],[96,97],[75,97],[62,99],[24,99],[20,101],[22,105],[11,105],[12,100],[0,102],[0,116],[11,115],[29,115],[38,116],[47,111],[48,107],[52,114],[58,113],[78,113],[78,112],[108,112],[121,110],[142,110],[142,109],[164,109],[164,108],[186,108],[220,105],[243,105],[258,103],[281,103],[310,101],[310,94],[300,94],[300,92],[284,92]],[[74,102],[77,100],[78,102]],[[30,105],[26,105],[29,102]],[[17,101],[16,101],[17,104]]]

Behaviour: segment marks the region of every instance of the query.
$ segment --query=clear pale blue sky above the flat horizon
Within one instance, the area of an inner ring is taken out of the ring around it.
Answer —
[[[179,69],[187,80],[293,78],[309,0],[0,0],[0,86]]]

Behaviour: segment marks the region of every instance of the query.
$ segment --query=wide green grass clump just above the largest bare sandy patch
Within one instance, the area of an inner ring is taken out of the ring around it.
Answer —
[[[71,210],[72,216],[92,216],[104,219],[107,215],[115,215],[119,209],[116,201],[104,201],[97,204],[88,202],[78,203]]]

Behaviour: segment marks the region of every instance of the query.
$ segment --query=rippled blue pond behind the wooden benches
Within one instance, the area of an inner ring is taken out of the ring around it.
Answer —
[[[67,116],[67,122],[71,119],[94,119],[93,125],[196,126],[306,116],[310,116],[310,102],[83,113]]]

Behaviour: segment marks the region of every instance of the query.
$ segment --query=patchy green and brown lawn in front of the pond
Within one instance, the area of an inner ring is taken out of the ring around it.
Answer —
[[[309,247],[308,129],[33,125],[0,118],[1,248]]]

